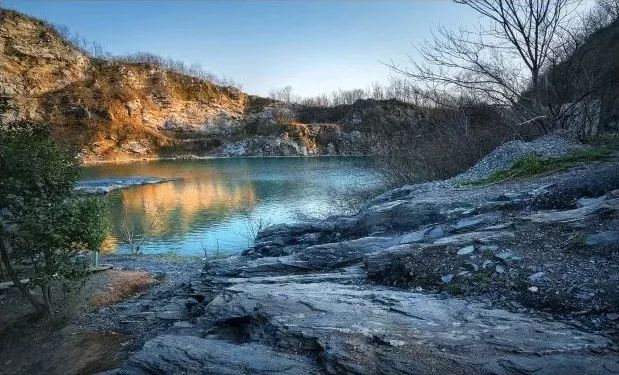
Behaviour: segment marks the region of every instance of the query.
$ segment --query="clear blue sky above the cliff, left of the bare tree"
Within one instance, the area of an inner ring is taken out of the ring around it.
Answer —
[[[364,88],[391,74],[439,25],[478,19],[447,0],[28,1],[16,9],[67,26],[112,54],[147,51],[199,63],[250,93]]]

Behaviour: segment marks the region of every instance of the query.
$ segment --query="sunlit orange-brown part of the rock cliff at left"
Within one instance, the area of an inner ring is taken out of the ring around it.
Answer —
[[[177,143],[177,132],[229,132],[252,104],[233,87],[91,58],[48,24],[10,10],[0,13],[0,87],[13,104],[5,120],[51,123],[60,139],[83,147],[85,160],[154,156]]]

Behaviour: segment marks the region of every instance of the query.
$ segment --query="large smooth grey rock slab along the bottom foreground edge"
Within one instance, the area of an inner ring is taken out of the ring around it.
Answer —
[[[328,373],[492,373],[485,369],[506,358],[556,369],[566,356],[578,361],[610,343],[562,323],[462,299],[332,282],[239,283],[217,296],[206,314],[215,324],[267,321],[264,330],[252,326],[251,332],[279,350],[315,342]],[[599,368],[619,368],[614,356],[598,361]]]

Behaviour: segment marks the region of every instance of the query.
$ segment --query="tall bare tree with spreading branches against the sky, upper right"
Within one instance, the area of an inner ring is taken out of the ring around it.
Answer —
[[[573,0],[455,0],[482,16],[478,30],[441,28],[411,58],[412,69],[391,64],[423,91],[465,93],[512,111],[517,123],[538,122],[546,113],[536,93],[552,46],[565,27]]]

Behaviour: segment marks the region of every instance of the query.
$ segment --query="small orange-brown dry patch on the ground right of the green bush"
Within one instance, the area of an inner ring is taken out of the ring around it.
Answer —
[[[157,280],[145,271],[108,271],[105,290],[93,298],[97,307],[111,305],[146,289]]]

